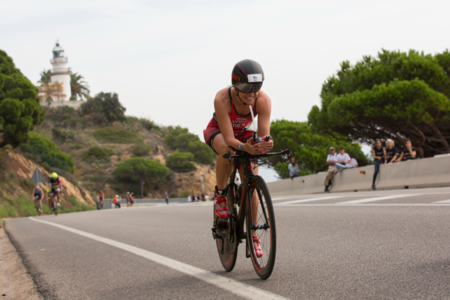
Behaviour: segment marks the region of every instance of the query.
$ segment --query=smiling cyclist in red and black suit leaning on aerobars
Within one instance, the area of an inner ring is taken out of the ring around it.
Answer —
[[[229,146],[240,149],[252,155],[263,154],[273,148],[270,137],[271,101],[269,96],[261,90],[264,72],[259,63],[253,60],[238,62],[231,74],[232,86],[220,90],[214,99],[213,118],[203,131],[205,142],[219,156],[216,162],[216,193],[215,217],[229,218],[227,206],[227,180],[233,171],[233,164],[223,155],[230,152]],[[250,107],[258,116],[258,135],[262,141],[253,140],[253,124]],[[254,174],[258,175],[257,162],[252,163]],[[256,168],[256,169],[255,169]],[[243,177],[244,170],[239,167],[239,174]],[[245,177],[242,178],[245,182]],[[253,195],[254,217],[257,217],[259,200]],[[256,220],[254,220],[256,222]],[[263,255],[260,241],[253,233],[255,252],[258,257]]]

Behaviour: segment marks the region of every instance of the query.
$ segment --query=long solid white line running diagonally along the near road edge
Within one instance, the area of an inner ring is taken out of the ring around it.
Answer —
[[[54,226],[87,238],[90,238],[92,240],[128,251],[130,253],[136,254],[138,256],[141,256],[143,258],[146,258],[150,261],[153,261],[155,263],[161,264],[163,266],[169,267],[171,269],[174,269],[178,272],[193,276],[197,279],[200,279],[204,282],[207,282],[209,284],[215,285],[221,289],[226,290],[227,292],[231,292],[233,294],[236,294],[238,296],[247,298],[247,299],[255,299],[255,300],[260,300],[260,299],[274,299],[274,300],[278,300],[278,299],[288,299],[273,293],[270,293],[268,291],[265,290],[261,290],[258,289],[256,287],[247,285],[245,283],[227,278],[227,277],[223,277],[220,275],[217,275],[215,273],[211,273],[209,271],[176,261],[174,259],[138,248],[138,247],[134,247],[131,245],[127,245],[121,242],[117,242],[111,239],[107,239],[92,233],[88,233],[88,232],[84,232],[78,229],[74,229],[71,227],[67,227],[64,225],[60,225],[60,224],[56,224],[56,223],[52,223],[52,222],[47,222],[47,221],[43,221],[43,220],[38,220],[35,219],[33,217],[29,217],[30,220],[35,221],[35,222],[39,222],[39,223],[43,223],[43,224],[47,224],[50,226]]]

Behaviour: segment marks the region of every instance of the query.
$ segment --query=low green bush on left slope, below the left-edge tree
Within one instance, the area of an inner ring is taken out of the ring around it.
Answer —
[[[28,133],[28,142],[20,146],[20,150],[36,156],[41,163],[47,163],[48,166],[58,168],[73,173],[72,156],[63,153],[56,147],[55,143],[46,136],[35,132]]]

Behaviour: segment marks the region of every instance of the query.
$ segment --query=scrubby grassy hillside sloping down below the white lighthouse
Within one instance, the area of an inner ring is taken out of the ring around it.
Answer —
[[[46,120],[35,127],[31,135],[37,134],[42,137],[40,140],[47,138],[54,142],[62,153],[70,155],[73,168],[64,167],[63,163],[59,163],[57,155],[50,155],[53,161],[49,163],[47,161],[50,159],[40,155],[39,149],[29,151],[27,147],[30,147],[30,141],[21,146],[22,151],[28,158],[41,163],[47,170],[57,170],[69,181],[87,189],[91,196],[94,196],[98,190],[103,190],[107,197],[112,197],[114,194],[121,194],[123,197],[124,193],[130,190],[139,197],[140,184],[115,179],[113,172],[117,165],[131,157],[149,158],[166,165],[166,158],[168,156],[170,158],[176,150],[172,145],[173,142],[167,145],[164,141],[171,132],[173,132],[172,135],[176,133],[175,138],[178,137],[180,127],[174,130],[172,127],[157,126],[146,119],[128,116],[120,121],[108,121],[99,113],[86,112],[83,109],[74,110],[67,106],[46,108],[46,111]],[[198,137],[183,130],[180,132],[187,134],[185,144],[189,144],[189,147],[186,146],[186,149],[181,150],[194,153],[187,157],[195,156],[194,161],[189,162],[191,167],[181,168],[183,169],[181,172],[180,168],[172,163],[164,184],[145,184],[146,198],[162,197],[164,191],[172,197],[201,193],[200,176],[204,176],[205,192],[213,191],[215,178],[214,165],[211,163],[213,160],[206,159],[208,163],[204,163],[205,149],[198,149],[200,143]],[[183,136],[178,140],[182,139]],[[46,151],[44,149],[42,152]],[[169,162],[172,161],[173,159],[169,159]]]

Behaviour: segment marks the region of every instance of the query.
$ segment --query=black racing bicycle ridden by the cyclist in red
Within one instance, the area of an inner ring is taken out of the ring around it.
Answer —
[[[222,266],[227,272],[233,270],[236,264],[238,246],[245,240],[245,256],[251,257],[256,274],[261,279],[267,279],[275,266],[277,244],[275,214],[267,185],[262,177],[253,174],[251,161],[282,155],[287,155],[289,159],[292,151],[286,149],[281,152],[250,155],[231,147],[230,149],[235,151],[236,154],[226,153],[223,158],[228,159],[228,164],[233,160],[233,171],[230,176],[230,183],[227,185],[227,204],[231,216],[228,219],[217,219],[214,214],[214,224],[211,228],[212,235],[216,241]],[[235,177],[239,165],[244,167],[245,182],[237,187]],[[254,195],[257,196],[258,205],[255,205],[252,201]],[[244,224],[246,224],[246,232],[244,232]],[[254,248],[254,237],[259,238],[260,246],[264,252],[263,256],[259,258],[256,256]]]

